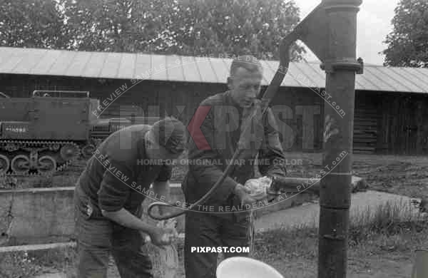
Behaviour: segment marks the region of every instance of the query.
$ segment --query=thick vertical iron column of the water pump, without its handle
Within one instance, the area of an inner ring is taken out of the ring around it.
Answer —
[[[357,12],[362,0],[324,0],[327,20],[325,155],[320,190],[319,278],[345,278],[351,205]],[[343,111],[343,113],[340,113]]]

